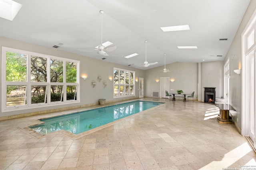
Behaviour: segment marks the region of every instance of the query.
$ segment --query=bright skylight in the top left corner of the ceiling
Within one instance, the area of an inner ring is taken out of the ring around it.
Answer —
[[[12,21],[21,7],[22,4],[13,0],[0,0],[0,17]]]

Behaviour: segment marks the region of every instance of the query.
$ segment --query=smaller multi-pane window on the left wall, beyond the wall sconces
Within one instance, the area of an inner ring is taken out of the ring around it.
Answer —
[[[114,68],[114,98],[135,96],[134,77],[135,72]]]

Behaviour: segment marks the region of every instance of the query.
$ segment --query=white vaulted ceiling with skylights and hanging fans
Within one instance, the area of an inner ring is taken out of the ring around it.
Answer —
[[[0,36],[52,47],[123,65],[145,61],[158,64],[222,61],[250,0],[15,0],[22,4],[13,21],[0,18]],[[110,41],[109,56],[93,49]],[[163,32],[160,27],[189,25],[190,30]],[[227,38],[228,41],[219,41]],[[178,49],[197,46],[198,49]],[[124,58],[132,53],[136,57]],[[222,57],[217,57],[221,55]],[[203,61],[204,60],[204,61]]]

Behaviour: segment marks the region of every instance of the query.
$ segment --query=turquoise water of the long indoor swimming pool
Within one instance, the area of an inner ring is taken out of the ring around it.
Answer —
[[[69,115],[40,119],[40,121],[44,122],[43,125],[30,128],[41,134],[48,134],[59,130],[79,134],[160,104],[163,103],[145,101],[128,102]]]

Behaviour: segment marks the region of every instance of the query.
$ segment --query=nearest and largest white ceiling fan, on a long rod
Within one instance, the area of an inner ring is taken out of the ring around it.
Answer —
[[[102,16],[104,14],[104,11],[100,10],[100,14],[101,14],[101,44],[98,45],[97,47],[95,47],[94,49],[98,50],[98,54],[108,56],[108,54],[105,52],[105,50],[113,51],[114,49],[116,49],[116,46],[110,46],[113,43],[111,43],[109,41],[102,43],[102,18],[103,18]]]

